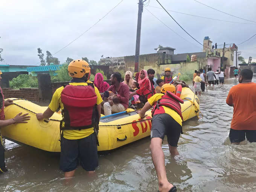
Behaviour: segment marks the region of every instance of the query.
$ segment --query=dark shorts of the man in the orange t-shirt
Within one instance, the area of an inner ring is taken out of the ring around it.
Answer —
[[[230,129],[229,139],[231,143],[237,143],[245,140],[249,142],[256,142],[256,130],[233,130]]]

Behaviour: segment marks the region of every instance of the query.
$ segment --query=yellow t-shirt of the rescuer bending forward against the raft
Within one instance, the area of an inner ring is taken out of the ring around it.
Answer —
[[[149,104],[153,106],[155,102],[157,102],[159,99],[162,98],[163,95],[164,95],[163,93],[154,94],[151,98],[148,99]],[[176,111],[172,110],[169,107],[165,107],[165,106],[162,106],[162,107],[164,108],[165,113],[170,115],[175,121],[177,121],[177,123],[179,123],[182,126],[182,119]]]

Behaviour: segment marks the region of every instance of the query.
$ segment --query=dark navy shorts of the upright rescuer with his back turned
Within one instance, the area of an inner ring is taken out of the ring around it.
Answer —
[[[94,171],[98,167],[97,137],[93,133],[82,139],[65,139],[61,136],[60,169],[73,171],[79,165],[86,171]]]

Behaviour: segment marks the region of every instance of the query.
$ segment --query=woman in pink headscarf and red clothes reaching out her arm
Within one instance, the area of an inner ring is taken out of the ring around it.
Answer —
[[[151,98],[152,95],[155,94],[155,88],[147,77],[148,77],[147,71],[141,70],[139,73],[139,79],[138,79],[140,88],[137,91],[130,93],[130,98],[133,95],[138,94],[140,96],[139,97],[140,101],[144,104],[148,101],[149,98]]]

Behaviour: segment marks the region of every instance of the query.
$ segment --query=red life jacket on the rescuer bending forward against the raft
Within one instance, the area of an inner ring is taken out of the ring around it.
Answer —
[[[165,95],[163,95],[162,98],[156,102],[154,109],[152,110],[152,116],[165,113],[165,110],[162,107],[165,106],[178,113],[183,120],[180,103],[184,103],[184,101],[177,95],[173,94],[171,91],[167,91]]]

